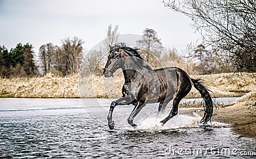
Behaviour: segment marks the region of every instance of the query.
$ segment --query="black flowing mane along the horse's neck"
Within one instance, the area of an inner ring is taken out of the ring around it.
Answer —
[[[138,63],[140,63],[141,66],[152,70],[152,68],[147,63],[145,63],[145,59],[143,59],[143,57],[141,57],[141,53],[138,52],[138,50],[140,50],[139,48],[127,47],[127,45],[125,43],[115,43],[113,45],[113,47],[110,48],[109,52],[113,52],[116,48],[125,50],[125,52],[127,54],[129,54],[130,56],[138,57],[138,59],[135,58],[135,60]]]

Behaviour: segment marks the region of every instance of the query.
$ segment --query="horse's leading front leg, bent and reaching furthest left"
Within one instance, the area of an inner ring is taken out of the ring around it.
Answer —
[[[132,101],[131,101],[130,96],[124,96],[124,97],[122,97],[118,100],[115,100],[114,102],[111,103],[110,109],[108,112],[108,126],[111,130],[115,127],[115,123],[112,120],[112,114],[113,114],[113,110],[115,109],[116,105],[128,105],[131,102]]]

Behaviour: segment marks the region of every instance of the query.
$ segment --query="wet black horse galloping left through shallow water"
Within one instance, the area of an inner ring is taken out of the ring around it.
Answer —
[[[127,121],[129,125],[133,123],[134,117],[147,103],[159,103],[157,115],[164,112],[166,105],[173,100],[173,107],[170,114],[161,121],[164,125],[178,113],[180,100],[188,95],[191,87],[200,92],[205,101],[204,117],[200,121],[205,124],[211,120],[212,99],[200,79],[191,79],[184,70],[176,67],[160,68],[153,70],[145,63],[140,56],[138,49],[127,47],[125,43],[109,45],[109,56],[104,70],[104,77],[113,77],[113,73],[122,68],[125,83],[122,87],[122,98],[111,103],[108,114],[108,126],[115,127],[112,120],[113,110],[116,105],[134,105],[134,109]]]

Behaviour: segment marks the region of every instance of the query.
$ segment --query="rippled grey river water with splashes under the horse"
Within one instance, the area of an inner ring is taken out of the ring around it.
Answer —
[[[196,111],[184,113],[187,109],[179,109],[178,116],[159,126],[155,106],[148,105],[136,117],[139,125],[134,129],[127,125],[132,106],[116,107],[116,128],[109,130],[110,103],[109,99],[0,98],[0,158],[256,157],[255,140],[239,138],[225,123],[199,126],[201,117]],[[100,109],[92,109],[93,105]]]

